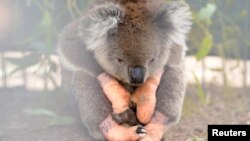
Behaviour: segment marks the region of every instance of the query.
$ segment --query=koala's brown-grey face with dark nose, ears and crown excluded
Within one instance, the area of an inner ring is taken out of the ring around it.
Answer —
[[[108,37],[105,48],[95,54],[106,72],[130,85],[140,85],[163,68],[169,51],[153,34],[153,25],[145,23],[142,29],[134,30],[130,24],[119,24],[116,34]]]

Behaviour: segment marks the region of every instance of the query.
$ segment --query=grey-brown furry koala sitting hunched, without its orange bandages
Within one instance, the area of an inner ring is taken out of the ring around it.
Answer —
[[[58,46],[62,84],[94,140],[104,140],[99,125],[112,113],[96,79],[102,72],[133,92],[164,69],[156,110],[168,117],[166,126],[179,121],[186,87],[186,35],[191,25],[189,7],[182,1],[96,0],[65,27]],[[127,114],[133,120],[133,112]]]

